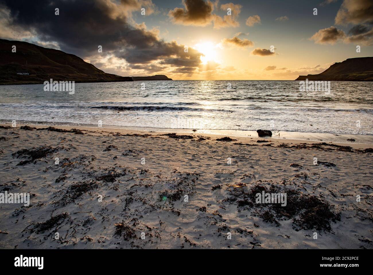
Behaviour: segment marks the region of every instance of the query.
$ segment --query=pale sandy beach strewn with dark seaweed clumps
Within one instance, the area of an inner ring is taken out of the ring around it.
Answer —
[[[373,248],[372,144],[20,126],[0,193],[30,204],[0,204],[1,248]]]

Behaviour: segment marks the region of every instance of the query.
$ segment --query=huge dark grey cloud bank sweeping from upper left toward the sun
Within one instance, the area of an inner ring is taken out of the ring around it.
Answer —
[[[99,61],[113,56],[122,64],[149,64],[150,70],[157,68],[151,64],[195,68],[200,64],[201,53],[197,50],[189,48],[184,52],[184,45],[160,39],[159,30],[147,30],[145,24],[131,24],[131,13],[140,12],[139,3],[145,7],[146,14],[155,10],[150,0],[54,0],[53,4],[44,0],[3,0],[0,3],[6,6],[0,22],[10,24],[39,44],[53,43],[64,52],[82,58]],[[59,15],[54,14],[55,7],[59,8]],[[22,38],[25,37],[18,40]],[[99,45],[103,47],[102,53],[97,51]]]

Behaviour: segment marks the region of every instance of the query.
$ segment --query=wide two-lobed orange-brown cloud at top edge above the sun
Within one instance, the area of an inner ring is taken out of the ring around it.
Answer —
[[[228,3],[221,5],[221,10],[227,11],[228,8],[231,9],[231,14],[225,15],[223,18],[213,13],[215,4],[209,0],[184,0],[183,4],[184,8],[177,7],[168,13],[174,24],[205,27],[213,23],[215,29],[239,26],[237,18],[242,8],[239,4]]]

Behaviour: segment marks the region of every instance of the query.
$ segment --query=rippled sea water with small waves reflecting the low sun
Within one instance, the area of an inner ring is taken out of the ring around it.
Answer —
[[[373,82],[331,81],[300,92],[299,81],[133,81],[0,86],[0,120],[126,127],[280,130],[373,135]]]

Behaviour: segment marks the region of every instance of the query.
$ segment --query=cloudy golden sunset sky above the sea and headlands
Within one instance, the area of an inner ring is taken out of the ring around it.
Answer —
[[[373,1],[0,0],[0,37],[122,76],[294,80],[373,56]]]

